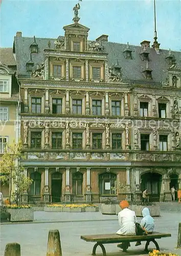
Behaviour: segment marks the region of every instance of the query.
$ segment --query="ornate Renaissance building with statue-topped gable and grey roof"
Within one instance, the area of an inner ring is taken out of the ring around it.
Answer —
[[[22,37],[13,53],[22,98],[24,201],[169,200],[181,186],[181,53],[87,40],[78,6],[57,39]]]

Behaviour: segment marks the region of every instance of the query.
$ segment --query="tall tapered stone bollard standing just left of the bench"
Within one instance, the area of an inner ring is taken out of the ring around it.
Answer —
[[[62,256],[60,233],[57,229],[49,230],[47,256]]]

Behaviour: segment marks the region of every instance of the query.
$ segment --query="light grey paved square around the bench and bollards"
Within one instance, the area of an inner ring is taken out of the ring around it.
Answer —
[[[21,256],[46,256],[50,229],[60,231],[62,256],[90,256],[94,243],[81,240],[82,234],[114,233],[119,229],[117,216],[102,215],[101,212],[37,211],[34,217],[37,223],[1,225],[1,256],[4,256],[5,246],[10,242],[21,245]],[[161,250],[165,249],[181,255],[181,249],[174,249],[177,244],[179,222],[181,222],[181,215],[176,211],[162,212],[162,217],[155,218],[155,231],[172,234],[171,238],[158,240]],[[132,243],[128,253],[122,252],[116,244],[105,245],[105,248],[107,256],[143,255],[145,254],[144,244],[143,242],[143,245],[138,248]],[[102,255],[101,249],[98,250],[97,255]]]

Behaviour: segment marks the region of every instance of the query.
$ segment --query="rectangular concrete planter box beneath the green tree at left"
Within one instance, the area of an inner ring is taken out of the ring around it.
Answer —
[[[8,208],[7,212],[11,215],[11,222],[33,221],[34,219],[34,210],[32,208]]]

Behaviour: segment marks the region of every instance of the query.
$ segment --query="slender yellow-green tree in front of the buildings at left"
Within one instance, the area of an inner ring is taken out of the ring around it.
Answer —
[[[22,158],[21,151],[21,140],[19,140],[18,143],[13,143],[13,145],[7,143],[5,154],[3,155],[3,160],[0,166],[0,181],[3,184],[10,185],[9,202],[11,204],[12,198],[17,205],[20,202],[21,194],[24,193],[32,183],[32,180],[24,174],[24,166],[18,161]],[[15,191],[13,193],[12,184],[15,186]]]

